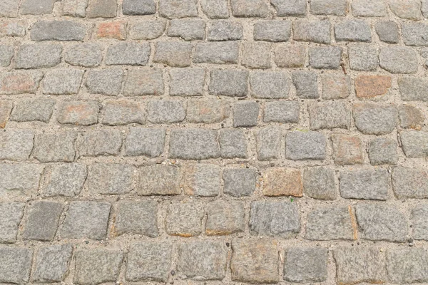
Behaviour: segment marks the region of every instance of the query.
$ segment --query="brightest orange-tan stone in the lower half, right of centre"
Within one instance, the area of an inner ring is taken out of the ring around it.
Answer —
[[[263,173],[263,195],[265,196],[303,196],[300,170],[274,167]]]

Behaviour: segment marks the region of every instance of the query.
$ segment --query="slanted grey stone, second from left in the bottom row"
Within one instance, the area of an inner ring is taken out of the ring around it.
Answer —
[[[41,247],[36,254],[31,281],[36,283],[61,282],[68,275],[73,247],[70,244]]]

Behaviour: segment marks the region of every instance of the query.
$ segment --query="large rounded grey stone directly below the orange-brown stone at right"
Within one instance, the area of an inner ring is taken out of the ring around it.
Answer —
[[[353,106],[355,126],[367,135],[391,133],[398,123],[398,112],[394,105],[360,103]]]

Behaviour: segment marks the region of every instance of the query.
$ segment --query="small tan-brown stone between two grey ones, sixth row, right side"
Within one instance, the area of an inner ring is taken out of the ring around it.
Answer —
[[[364,157],[360,138],[353,135],[332,135],[333,160],[337,165],[362,164]]]

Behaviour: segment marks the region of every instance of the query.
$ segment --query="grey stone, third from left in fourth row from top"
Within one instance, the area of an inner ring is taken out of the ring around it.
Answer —
[[[123,71],[116,68],[91,69],[86,77],[88,93],[118,95],[121,92]]]

